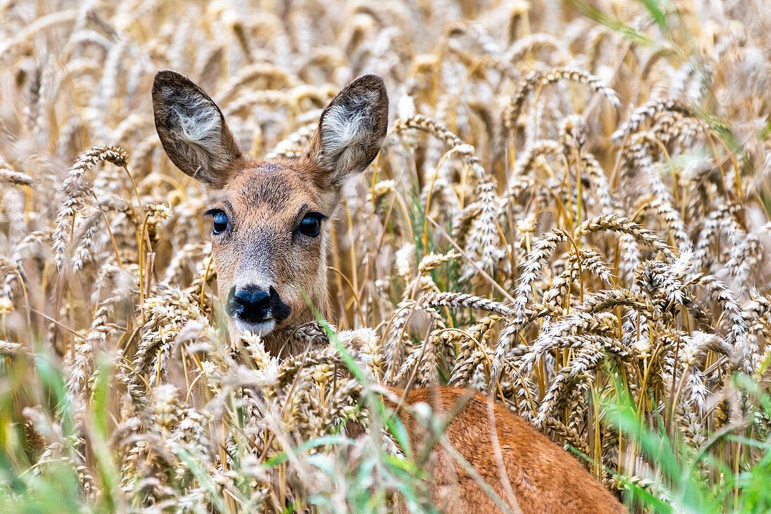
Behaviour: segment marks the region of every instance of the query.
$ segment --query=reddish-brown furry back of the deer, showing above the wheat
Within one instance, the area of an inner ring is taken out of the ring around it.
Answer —
[[[394,389],[401,398],[403,391]],[[466,404],[463,405],[463,401]],[[453,448],[513,512],[517,507],[503,484],[499,462],[503,462],[513,497],[519,509],[530,512],[626,512],[610,492],[594,479],[577,459],[537,432],[524,419],[479,393],[460,388],[427,388],[409,392],[406,403],[431,405],[433,415],[443,416],[460,408],[446,430]],[[492,413],[490,408],[492,407]],[[492,414],[492,416],[490,416]],[[422,448],[423,425],[404,409],[399,412],[413,448]],[[492,420],[490,420],[492,418]],[[492,421],[500,447],[500,460],[493,443]],[[431,492],[443,512],[503,512],[487,492],[441,445],[436,446]]]

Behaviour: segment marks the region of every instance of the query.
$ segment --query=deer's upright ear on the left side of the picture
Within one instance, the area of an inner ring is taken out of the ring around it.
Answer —
[[[155,128],[177,168],[211,186],[222,186],[241,149],[217,104],[190,79],[169,69],[153,80]]]

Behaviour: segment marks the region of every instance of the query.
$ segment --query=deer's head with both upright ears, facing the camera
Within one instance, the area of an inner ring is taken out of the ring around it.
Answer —
[[[207,187],[217,289],[231,330],[268,334],[327,314],[329,220],[346,177],[375,159],[388,126],[379,76],[361,76],[322,112],[303,156],[252,160],[217,104],[177,72],[153,82],[155,126],[183,173]]]

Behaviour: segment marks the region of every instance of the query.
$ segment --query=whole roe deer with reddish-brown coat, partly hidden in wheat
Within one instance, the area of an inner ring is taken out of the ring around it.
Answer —
[[[385,137],[388,96],[382,79],[362,76],[342,89],[296,159],[244,156],[221,110],[177,72],[158,72],[153,109],[167,155],[210,193],[206,214],[212,218],[217,288],[227,298],[231,331],[261,334],[266,348],[278,354],[280,341],[271,342],[271,334],[313,320],[302,291],[328,314],[328,223],[343,181],[369,166]],[[446,435],[473,473],[443,450],[433,461],[431,492],[447,512],[501,512],[501,500],[512,512],[625,512],[577,459],[503,405],[448,387],[406,396],[407,404],[426,402],[434,412],[452,412],[464,400]],[[405,409],[399,417],[412,444],[419,444],[419,423]],[[500,497],[498,503],[480,479]]]

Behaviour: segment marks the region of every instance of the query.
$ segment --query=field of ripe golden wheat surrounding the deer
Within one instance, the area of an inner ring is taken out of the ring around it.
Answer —
[[[769,31],[762,0],[0,2],[0,512],[436,512],[378,393],[439,384],[631,512],[769,512]],[[335,317],[285,333],[314,349],[227,334],[167,68],[251,156],[385,79]]]

